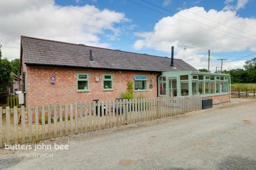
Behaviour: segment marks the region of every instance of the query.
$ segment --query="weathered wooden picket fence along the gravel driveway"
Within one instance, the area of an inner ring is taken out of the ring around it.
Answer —
[[[202,96],[0,107],[0,148],[175,116],[202,109]]]

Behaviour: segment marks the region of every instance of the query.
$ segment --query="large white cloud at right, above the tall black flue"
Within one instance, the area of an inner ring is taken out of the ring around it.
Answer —
[[[256,35],[256,29],[255,29],[256,19],[241,18],[236,15],[235,11],[210,10],[206,12],[203,7],[192,7],[188,10],[194,13],[197,13],[199,15],[203,15],[206,18],[209,18],[211,20],[218,21],[220,23],[225,23],[226,25],[228,25],[228,27],[233,27],[235,29],[242,30],[244,32],[249,32],[252,35]],[[227,28],[218,23],[201,18],[198,15],[191,14],[186,10],[179,11],[177,14],[186,16],[187,18],[196,20],[198,22],[203,22],[207,25],[211,25],[214,28],[218,28],[227,32],[235,33],[240,36],[254,39],[254,42],[256,41],[256,38],[254,36],[237,32],[235,30]],[[207,28],[204,25],[200,25],[200,27],[210,29],[213,32],[195,27],[194,25],[191,25],[191,24],[187,24],[187,23],[192,23],[192,24],[198,25],[197,23],[191,22],[190,20],[186,20],[181,16],[178,16],[177,14],[162,18],[155,24],[153,31],[146,32],[148,35],[154,38],[143,37],[137,33],[137,36],[141,36],[141,39],[135,41],[134,48],[135,49],[153,48],[158,51],[171,53],[171,46],[175,46],[175,52],[177,54],[176,57],[183,59],[183,48],[185,46],[194,47],[187,50],[186,62],[195,66],[198,69],[207,68],[207,56],[204,57],[202,55],[195,55],[195,53],[197,52],[207,53],[208,49],[211,49],[214,52],[230,52],[230,51],[240,51],[240,50],[246,50],[246,49],[250,49],[256,52],[255,44],[219,35],[218,33],[214,33],[214,32],[220,32],[220,31],[214,30],[212,28]],[[183,20],[185,22],[181,22],[177,19]],[[220,33],[228,35],[225,32],[220,32]],[[229,36],[235,37],[234,35],[229,35]],[[241,37],[237,37],[237,38],[242,39]],[[252,41],[252,40],[247,40],[247,41]],[[216,64],[220,65],[215,62],[216,59],[217,58],[212,59],[213,61],[213,63],[211,64],[212,71],[215,70]],[[234,67],[233,65],[237,67],[241,63],[242,62],[240,61],[233,62],[233,64],[228,64],[227,67],[231,69]],[[243,66],[243,64],[239,66]]]

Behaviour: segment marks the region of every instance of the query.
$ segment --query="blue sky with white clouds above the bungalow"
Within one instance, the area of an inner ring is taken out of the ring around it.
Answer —
[[[3,57],[20,57],[20,36],[185,60],[197,69],[243,68],[256,57],[256,0],[1,0]],[[250,55],[253,54],[253,55]],[[250,56],[247,56],[250,55]],[[247,57],[245,57],[247,56]],[[174,63],[175,64],[175,63]]]

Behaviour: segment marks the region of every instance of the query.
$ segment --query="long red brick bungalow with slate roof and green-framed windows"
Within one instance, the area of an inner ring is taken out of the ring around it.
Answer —
[[[183,83],[180,89],[176,88],[181,91],[171,93],[169,78],[164,79],[162,74],[188,72],[188,79],[195,73],[201,74],[188,63],[169,57],[25,36],[21,36],[20,58],[26,106],[115,100],[126,91],[128,81],[134,84],[135,98],[192,95],[190,83],[186,85],[180,79],[175,86]],[[229,77],[217,77],[221,76]],[[182,87],[189,92],[182,91]],[[219,95],[223,98],[228,93]]]

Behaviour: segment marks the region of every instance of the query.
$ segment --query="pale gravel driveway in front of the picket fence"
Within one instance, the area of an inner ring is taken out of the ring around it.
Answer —
[[[43,143],[72,140],[68,150],[0,149],[0,169],[256,169],[256,100]]]

